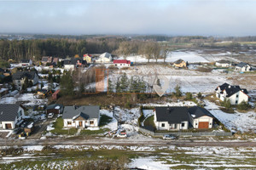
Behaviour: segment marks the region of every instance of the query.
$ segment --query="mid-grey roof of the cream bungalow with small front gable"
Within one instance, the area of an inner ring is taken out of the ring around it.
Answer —
[[[63,111],[63,119],[73,119],[77,116],[81,116],[88,118],[99,118],[99,105],[84,105],[84,106],[65,106]],[[88,119],[86,118],[86,119]]]

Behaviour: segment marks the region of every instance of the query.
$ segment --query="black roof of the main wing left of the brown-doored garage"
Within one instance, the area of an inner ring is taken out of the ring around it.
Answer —
[[[181,123],[189,122],[187,107],[155,107],[157,122]]]

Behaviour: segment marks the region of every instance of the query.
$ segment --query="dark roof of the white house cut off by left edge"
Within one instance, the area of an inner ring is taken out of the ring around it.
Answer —
[[[20,105],[18,104],[4,104],[0,105],[0,122],[3,121],[15,121],[17,112],[19,111]]]

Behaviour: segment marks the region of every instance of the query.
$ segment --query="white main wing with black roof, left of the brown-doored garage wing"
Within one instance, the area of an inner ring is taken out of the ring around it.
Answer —
[[[154,125],[157,130],[183,130],[189,128],[187,107],[155,107]]]

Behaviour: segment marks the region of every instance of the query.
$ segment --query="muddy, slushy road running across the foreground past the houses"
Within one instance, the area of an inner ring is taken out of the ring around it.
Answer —
[[[137,146],[224,146],[224,147],[256,147],[256,142],[247,141],[189,141],[189,140],[162,140],[162,139],[148,139],[147,141],[134,140],[134,139],[3,139],[0,140],[0,145],[137,145]]]

